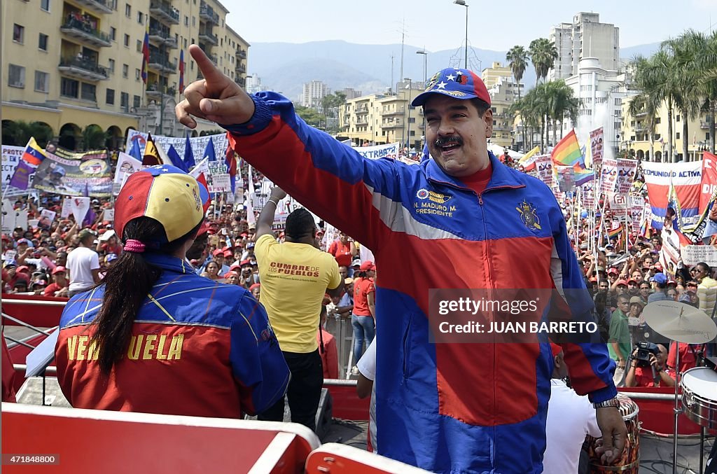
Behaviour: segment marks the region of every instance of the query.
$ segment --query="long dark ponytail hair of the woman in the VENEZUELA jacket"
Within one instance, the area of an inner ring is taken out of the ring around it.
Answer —
[[[173,242],[152,245],[166,240],[164,228],[155,219],[138,217],[125,225],[123,240],[138,240],[146,245],[147,252],[171,255],[196,235],[199,225],[201,222]],[[96,327],[92,339],[99,348],[98,363],[104,374],[109,374],[127,351],[137,313],[161,274],[161,268],[147,262],[142,253],[125,250],[95,286],[105,285],[102,307],[92,323]]]

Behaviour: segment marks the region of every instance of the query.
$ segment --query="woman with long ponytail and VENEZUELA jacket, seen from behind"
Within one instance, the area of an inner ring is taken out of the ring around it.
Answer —
[[[239,418],[283,397],[289,371],[264,308],[186,263],[207,200],[174,166],[128,178],[115,205],[124,251],[60,320],[57,379],[73,407]]]

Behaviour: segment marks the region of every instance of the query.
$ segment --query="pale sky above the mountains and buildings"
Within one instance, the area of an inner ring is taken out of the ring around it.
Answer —
[[[343,39],[406,44],[440,51],[465,38],[465,6],[452,0],[220,0],[227,23],[248,42],[305,43]],[[466,0],[468,42],[505,51],[548,37],[550,27],[595,11],[620,29],[620,47],[661,42],[685,29],[717,29],[717,0]]]

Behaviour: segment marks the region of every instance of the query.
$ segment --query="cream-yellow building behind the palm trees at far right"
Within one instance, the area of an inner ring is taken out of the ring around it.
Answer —
[[[665,161],[668,153],[668,110],[663,103],[655,118],[655,131],[653,133],[652,149],[655,157],[650,157],[650,134],[647,128],[647,113],[639,113],[634,117],[630,115],[630,97],[622,101],[622,133],[620,134],[620,149],[630,150],[630,153],[640,159],[649,161]],[[704,113],[698,118],[688,120],[688,136],[683,136],[685,118],[678,110],[673,110],[673,156],[674,161],[683,160],[683,143],[688,141],[688,156],[686,161],[695,161],[702,158],[702,152],[709,146],[710,126]]]

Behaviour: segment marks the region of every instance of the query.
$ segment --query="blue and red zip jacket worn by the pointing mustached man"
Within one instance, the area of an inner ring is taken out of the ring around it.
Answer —
[[[551,190],[491,154],[478,195],[432,160],[362,158],[306,125],[282,95],[253,99],[252,120],[227,127],[234,150],[374,251],[379,454],[444,472],[542,472],[549,344],[431,343],[428,308],[432,288],[556,288],[577,290],[569,311],[592,318]],[[540,225],[526,224],[523,202]],[[604,343],[564,351],[577,392],[594,402],[617,394]]]

